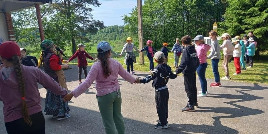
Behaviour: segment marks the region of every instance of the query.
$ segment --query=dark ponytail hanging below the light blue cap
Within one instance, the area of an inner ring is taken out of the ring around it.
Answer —
[[[98,49],[97,51],[98,52],[103,52],[102,49]],[[104,75],[105,78],[107,78],[111,74],[111,71],[109,69],[109,62],[108,62],[108,56],[109,56],[110,52],[111,52],[111,49],[106,51],[106,52],[97,54],[97,57],[98,57],[98,59],[100,60],[100,62],[102,64],[103,75]]]

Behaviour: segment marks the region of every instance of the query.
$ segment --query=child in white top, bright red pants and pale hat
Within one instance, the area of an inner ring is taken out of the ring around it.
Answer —
[[[236,67],[236,72],[233,73],[233,75],[240,75],[241,74],[241,67],[240,67],[240,57],[241,57],[241,46],[239,43],[238,38],[233,38],[232,43],[235,44],[235,47],[233,48],[233,57],[234,57],[234,65]]]

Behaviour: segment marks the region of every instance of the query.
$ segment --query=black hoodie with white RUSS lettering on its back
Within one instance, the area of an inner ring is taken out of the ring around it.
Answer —
[[[194,45],[188,45],[183,49],[183,55],[179,67],[175,70],[176,74],[183,73],[191,75],[196,72],[199,66],[199,59]]]

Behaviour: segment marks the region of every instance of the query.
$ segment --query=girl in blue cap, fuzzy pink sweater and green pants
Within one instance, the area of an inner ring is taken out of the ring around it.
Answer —
[[[98,62],[95,62],[89,70],[89,76],[72,92],[65,95],[65,100],[71,100],[72,96],[77,98],[88,90],[92,82],[96,83],[97,100],[102,122],[106,133],[125,133],[125,125],[121,114],[121,92],[118,83],[118,75],[130,83],[137,80],[132,77],[122,65],[110,58],[112,47],[108,42],[102,41],[97,45]]]

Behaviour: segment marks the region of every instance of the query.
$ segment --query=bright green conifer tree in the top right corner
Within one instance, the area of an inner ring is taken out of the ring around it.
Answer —
[[[219,32],[231,36],[254,32],[257,38],[256,57],[268,49],[268,1],[267,0],[226,0],[228,7],[219,23]]]

